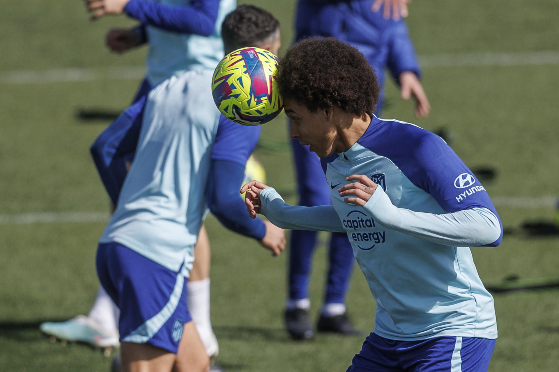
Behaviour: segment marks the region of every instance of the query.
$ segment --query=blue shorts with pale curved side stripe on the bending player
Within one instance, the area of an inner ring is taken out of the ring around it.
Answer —
[[[121,342],[150,344],[177,353],[187,308],[188,279],[119,243],[99,244],[97,274],[120,308]]]

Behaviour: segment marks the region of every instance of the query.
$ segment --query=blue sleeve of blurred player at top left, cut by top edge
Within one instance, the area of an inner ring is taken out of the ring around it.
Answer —
[[[130,0],[126,14],[144,25],[180,33],[210,36],[214,32],[220,0],[191,0],[190,5],[162,4],[151,0]]]

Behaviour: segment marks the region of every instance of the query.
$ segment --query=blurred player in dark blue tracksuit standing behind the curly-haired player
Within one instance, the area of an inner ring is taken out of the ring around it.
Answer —
[[[419,82],[420,67],[408,28],[400,15],[407,15],[407,1],[321,1],[299,0],[296,18],[296,40],[309,36],[333,36],[357,47],[375,69],[381,87],[385,68],[400,85],[403,99],[414,96],[415,114],[425,117],[430,110],[429,101]],[[381,11],[382,10],[382,11]],[[387,12],[392,10],[394,12]],[[391,19],[397,18],[397,21]],[[382,108],[381,98],[377,113]],[[330,202],[330,189],[316,154],[299,141],[291,141],[300,205],[324,205]],[[331,159],[324,160],[324,165]],[[312,254],[316,247],[316,231],[294,230],[291,232],[288,273],[288,298],[285,321],[287,331],[295,339],[308,339],[314,335],[308,310],[309,279]],[[329,243],[329,269],[326,278],[324,305],[320,312],[317,330],[356,334],[345,315],[345,296],[353,270],[353,254],[347,236],[332,233]]]

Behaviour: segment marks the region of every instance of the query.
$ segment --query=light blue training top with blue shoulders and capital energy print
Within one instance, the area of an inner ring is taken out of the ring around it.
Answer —
[[[364,207],[337,191],[353,174],[378,185]],[[326,179],[332,206],[289,206],[269,188],[262,214],[281,228],[347,233],[377,303],[376,334],[497,337],[493,298],[468,247],[498,245],[503,228],[485,188],[440,137],[373,116]]]

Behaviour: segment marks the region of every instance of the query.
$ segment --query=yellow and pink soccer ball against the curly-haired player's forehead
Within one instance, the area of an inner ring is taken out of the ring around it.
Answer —
[[[278,58],[257,47],[226,55],[212,78],[212,94],[220,112],[235,123],[260,125],[283,109],[276,74]]]

